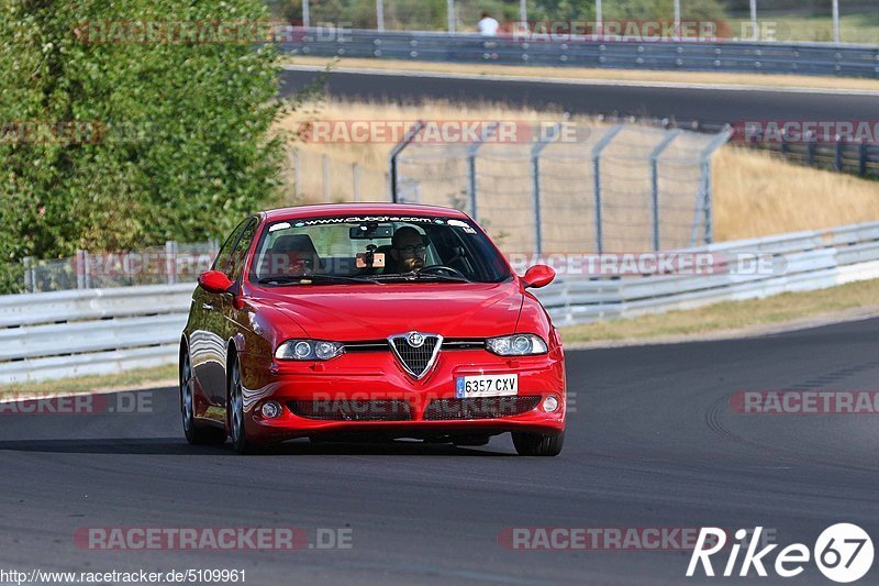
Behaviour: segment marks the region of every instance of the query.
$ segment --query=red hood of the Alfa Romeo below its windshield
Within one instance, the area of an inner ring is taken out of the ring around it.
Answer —
[[[515,331],[523,300],[513,281],[285,287],[260,295],[260,302],[310,338],[340,342],[381,340],[412,330],[444,338],[509,334]]]

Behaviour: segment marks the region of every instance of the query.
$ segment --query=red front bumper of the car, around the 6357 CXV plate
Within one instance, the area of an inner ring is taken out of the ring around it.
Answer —
[[[246,433],[257,442],[358,433],[442,439],[565,429],[560,349],[521,357],[486,350],[443,351],[421,380],[409,376],[390,351],[349,353],[325,363],[272,361],[268,366],[265,358],[242,355],[242,366]],[[511,373],[519,375],[515,397],[476,399],[479,403],[455,397],[458,376]],[[543,409],[548,396],[558,400],[553,412]],[[262,416],[269,400],[283,407],[280,417]]]

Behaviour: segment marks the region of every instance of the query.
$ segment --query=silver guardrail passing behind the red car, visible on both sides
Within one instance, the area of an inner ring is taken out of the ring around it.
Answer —
[[[879,278],[879,222],[710,244],[769,255],[783,270],[709,276],[560,275],[537,296],[558,325],[687,309]],[[173,364],[193,284],[0,297],[0,384]]]

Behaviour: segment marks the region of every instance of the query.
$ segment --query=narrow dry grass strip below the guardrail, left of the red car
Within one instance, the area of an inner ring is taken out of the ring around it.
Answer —
[[[119,389],[127,390],[137,387],[151,388],[158,384],[177,385],[177,365],[157,366],[155,368],[140,368],[114,375],[90,375],[74,378],[59,378],[43,383],[23,383],[7,385],[0,389],[0,399],[3,394],[48,392],[66,395],[73,392],[90,392],[96,390]]]

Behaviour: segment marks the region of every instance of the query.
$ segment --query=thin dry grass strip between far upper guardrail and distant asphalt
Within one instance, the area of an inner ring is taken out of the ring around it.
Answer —
[[[325,67],[325,57],[288,57],[290,65]],[[526,67],[515,65],[447,64],[407,62],[394,59],[365,59],[342,57],[335,69],[388,69],[393,71],[424,71],[438,74],[468,74],[491,76],[521,76],[535,79],[583,79],[601,81],[709,84],[730,86],[764,86],[774,88],[812,88],[879,90],[879,80],[843,77],[817,77],[780,74],[725,74],[713,71],[655,71],[636,69],[599,69],[587,67]]]

